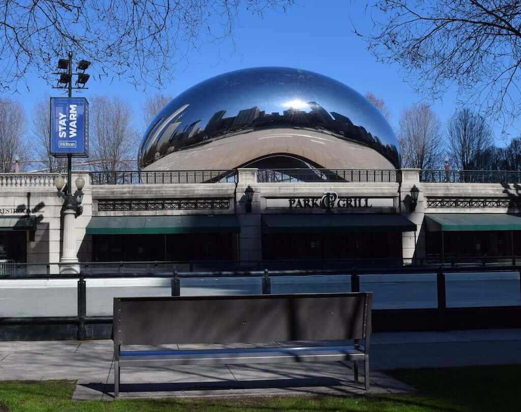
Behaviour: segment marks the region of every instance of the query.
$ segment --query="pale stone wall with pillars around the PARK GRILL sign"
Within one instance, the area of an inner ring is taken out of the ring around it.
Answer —
[[[194,184],[141,184],[141,185],[91,185],[88,173],[73,173],[73,180],[81,174],[85,180],[83,189],[83,215],[75,220],[75,234],[80,261],[91,260],[92,241],[85,235],[85,228],[92,216],[130,215],[179,215],[179,214],[235,214],[241,223],[239,235],[239,259],[260,260],[262,258],[261,216],[270,213],[326,213],[321,209],[296,209],[267,207],[266,198],[289,198],[297,196],[320,197],[325,191],[337,192],[339,196],[394,198],[395,207],[371,210],[373,213],[401,213],[416,223],[416,232],[402,234],[403,257],[425,257],[425,213],[520,213],[511,208],[428,208],[429,196],[444,197],[505,197],[519,198],[521,189],[514,185],[478,183],[420,183],[419,170],[404,169],[400,183],[257,183],[256,169],[240,169],[239,181],[235,183]],[[61,238],[60,210],[63,199],[56,195],[53,186],[55,174],[0,174],[0,209],[12,209],[24,205],[38,210],[39,222],[34,241],[28,241],[28,263],[55,263],[60,259]],[[254,190],[252,213],[246,213],[244,191],[250,185]],[[413,185],[419,189],[418,203],[411,210],[410,191]],[[73,191],[76,190],[73,184]],[[155,211],[98,211],[100,199],[125,198],[230,198],[229,209],[201,210],[155,210]],[[328,213],[367,213],[367,210],[333,209]],[[21,216],[3,214],[2,216]],[[29,236],[29,235],[28,235]],[[29,239],[29,238],[28,238]]]

